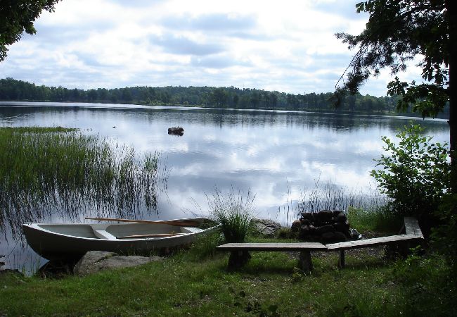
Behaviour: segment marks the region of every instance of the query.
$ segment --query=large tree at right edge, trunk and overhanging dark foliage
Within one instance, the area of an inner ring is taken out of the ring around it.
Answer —
[[[457,190],[457,1],[368,0],[356,4],[357,12],[369,13],[366,29],[359,35],[336,37],[358,51],[335,91],[337,99],[359,87],[382,68],[392,75],[406,70],[406,63],[420,58],[423,82],[401,82],[395,77],[388,94],[399,94],[397,108],[422,116],[436,116],[449,102],[451,188]],[[339,81],[339,82],[340,82]]]

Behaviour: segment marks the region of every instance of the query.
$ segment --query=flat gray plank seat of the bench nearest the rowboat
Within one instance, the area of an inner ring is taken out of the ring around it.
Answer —
[[[327,251],[327,247],[318,242],[297,243],[226,243],[216,247],[219,250],[250,251]]]

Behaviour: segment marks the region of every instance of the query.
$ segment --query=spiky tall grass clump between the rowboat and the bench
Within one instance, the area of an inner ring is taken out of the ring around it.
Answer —
[[[219,223],[226,242],[243,242],[254,213],[255,195],[248,191],[244,196],[232,187],[225,195],[215,189],[207,199],[210,216]]]

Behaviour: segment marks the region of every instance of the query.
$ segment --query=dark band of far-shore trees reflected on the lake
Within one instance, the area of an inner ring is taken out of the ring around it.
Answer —
[[[369,130],[378,127],[382,130],[396,132],[406,125],[406,120],[399,117],[386,116],[367,116],[367,115],[348,115],[341,113],[304,113],[298,111],[256,111],[256,110],[236,110],[236,109],[214,109],[214,108],[186,108],[181,111],[179,108],[147,108],[136,106],[134,108],[112,108],[101,106],[101,108],[87,108],[81,106],[37,106],[37,107],[18,107],[0,106],[0,114],[4,122],[13,122],[15,118],[30,118],[37,112],[44,115],[77,116],[78,111],[90,111],[94,115],[103,118],[110,118],[110,114],[119,113],[124,116],[136,116],[139,119],[148,120],[149,123],[157,121],[176,122],[180,125],[195,124],[215,125],[219,128],[265,126],[273,128],[285,125],[287,127],[306,127],[310,130]],[[83,104],[84,105],[84,104]],[[92,105],[94,106],[94,105]],[[420,118],[410,118],[421,125],[427,126],[428,132],[448,131],[449,127],[443,124],[442,120],[423,121]],[[135,119],[134,119],[135,120]]]

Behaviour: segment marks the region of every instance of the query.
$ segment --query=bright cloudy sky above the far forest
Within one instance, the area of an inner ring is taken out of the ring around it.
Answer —
[[[332,92],[352,53],[334,36],[367,15],[338,0],[63,0],[0,63],[0,77],[68,88],[235,86]],[[420,74],[420,73],[419,73]],[[411,67],[401,79],[417,77]],[[385,95],[382,73],[361,89]]]

